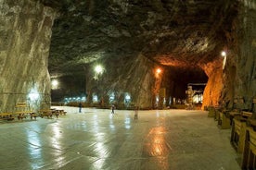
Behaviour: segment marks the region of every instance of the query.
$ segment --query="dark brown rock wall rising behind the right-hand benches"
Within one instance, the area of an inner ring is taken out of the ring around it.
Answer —
[[[256,98],[256,3],[241,0],[239,18],[233,23],[224,68],[222,100],[228,108],[248,109],[255,113]]]

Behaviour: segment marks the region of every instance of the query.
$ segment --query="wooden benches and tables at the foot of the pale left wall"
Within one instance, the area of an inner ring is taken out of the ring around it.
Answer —
[[[36,117],[47,117],[66,115],[67,112],[58,109],[45,109],[39,110],[38,112],[32,111],[27,103],[17,103],[15,107],[15,112],[11,113],[0,113],[0,119],[2,120],[14,120],[16,117],[20,120],[30,116],[31,119],[36,119]]]

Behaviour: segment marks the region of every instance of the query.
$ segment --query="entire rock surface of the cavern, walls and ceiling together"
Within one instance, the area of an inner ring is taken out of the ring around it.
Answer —
[[[83,93],[88,103],[97,95],[103,105],[122,106],[129,94],[133,104],[152,108],[156,97],[169,103],[186,97],[187,83],[208,81],[204,105],[235,107],[239,98],[244,103],[237,107],[252,106],[253,1],[0,0],[0,5],[2,109],[27,99],[32,88],[49,101],[46,67],[61,80],[61,95],[52,91],[59,100]],[[101,74],[96,64],[104,67]]]

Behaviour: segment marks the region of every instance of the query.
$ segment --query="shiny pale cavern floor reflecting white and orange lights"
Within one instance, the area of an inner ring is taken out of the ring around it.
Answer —
[[[0,122],[0,169],[240,169],[230,130],[206,112],[139,111],[134,121],[134,111],[62,108],[59,118]]]

